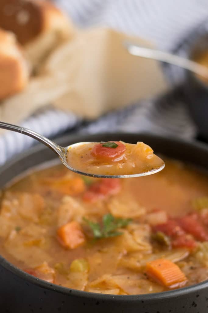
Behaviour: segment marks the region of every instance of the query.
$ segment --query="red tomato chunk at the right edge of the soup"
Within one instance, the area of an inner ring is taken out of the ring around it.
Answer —
[[[182,229],[193,235],[197,240],[208,241],[208,232],[196,214],[186,215],[178,219]]]

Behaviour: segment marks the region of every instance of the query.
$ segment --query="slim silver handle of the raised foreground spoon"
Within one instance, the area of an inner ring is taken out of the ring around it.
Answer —
[[[61,152],[64,149],[63,147],[57,145],[55,142],[51,141],[50,139],[36,133],[35,131],[32,131],[28,128],[12,125],[8,123],[4,123],[0,121],[0,128],[7,129],[9,131],[16,131],[17,133],[21,133],[24,135],[27,135],[29,137],[32,137],[41,143],[43,143],[45,146],[51,148],[55,153],[57,153],[59,156],[61,156]]]

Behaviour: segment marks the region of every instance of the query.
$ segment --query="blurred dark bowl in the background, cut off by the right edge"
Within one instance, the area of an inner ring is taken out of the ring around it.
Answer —
[[[189,58],[195,60],[205,51],[208,51],[208,34],[198,38],[192,45]],[[189,71],[186,74],[185,90],[189,100],[188,107],[200,135],[208,140],[208,82],[206,84]]]

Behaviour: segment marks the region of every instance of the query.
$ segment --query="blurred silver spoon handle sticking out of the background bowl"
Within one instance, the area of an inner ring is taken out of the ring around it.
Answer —
[[[160,50],[145,48],[138,44],[133,44],[130,42],[124,42],[124,46],[132,55],[177,65],[182,67],[183,69],[188,69],[189,71],[208,79],[208,67],[203,66],[197,62]]]

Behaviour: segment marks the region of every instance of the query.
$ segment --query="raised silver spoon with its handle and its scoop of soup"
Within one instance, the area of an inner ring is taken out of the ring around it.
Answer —
[[[30,129],[0,122],[0,128],[30,136],[51,148],[71,171],[91,177],[125,178],[157,173],[165,167],[161,158],[143,142],[78,142],[67,147],[57,145]]]

